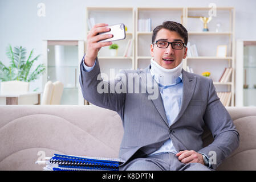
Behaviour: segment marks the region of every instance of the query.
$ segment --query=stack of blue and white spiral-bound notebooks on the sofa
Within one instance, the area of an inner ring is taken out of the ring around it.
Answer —
[[[121,159],[54,154],[46,161],[46,167],[43,169],[50,171],[118,171],[122,163],[124,160]]]

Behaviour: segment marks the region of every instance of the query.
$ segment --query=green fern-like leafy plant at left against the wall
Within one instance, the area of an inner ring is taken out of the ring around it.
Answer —
[[[31,82],[36,80],[46,70],[44,64],[39,64],[34,71],[31,70],[32,65],[40,56],[38,55],[32,58],[33,49],[30,51],[29,57],[27,58],[26,48],[22,46],[16,46],[14,49],[9,46],[6,50],[6,55],[10,59],[10,65],[6,66],[0,61],[0,81],[17,80]]]

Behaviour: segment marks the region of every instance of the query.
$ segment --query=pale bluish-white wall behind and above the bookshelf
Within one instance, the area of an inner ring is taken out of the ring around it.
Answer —
[[[46,16],[38,16],[38,3],[46,5]],[[83,40],[86,25],[86,7],[217,7],[235,8],[235,39],[256,39],[255,0],[0,0],[0,60],[9,64],[6,47],[23,46],[27,52],[34,48],[34,55],[42,54],[42,40]],[[161,22],[160,22],[161,23]],[[38,64],[42,63],[42,57]],[[36,65],[35,65],[36,66]],[[30,90],[39,87],[42,79],[31,82]]]

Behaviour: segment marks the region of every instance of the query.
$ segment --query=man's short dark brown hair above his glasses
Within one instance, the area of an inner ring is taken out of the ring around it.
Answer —
[[[185,44],[188,43],[188,31],[186,30],[186,28],[184,26],[182,26],[182,24],[180,24],[180,23],[166,21],[166,22],[163,22],[161,25],[157,26],[153,30],[152,44],[155,42],[157,32],[159,32],[159,30],[161,30],[162,28],[165,28],[169,31],[177,32],[181,36],[181,38],[184,39],[184,43]]]

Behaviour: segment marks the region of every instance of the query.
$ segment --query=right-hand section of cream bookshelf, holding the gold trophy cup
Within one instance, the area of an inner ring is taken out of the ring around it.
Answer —
[[[234,106],[235,93],[235,59],[234,59],[234,17],[233,7],[217,7],[216,16],[208,23],[209,31],[202,31],[203,23],[193,16],[209,17],[209,7],[185,8],[184,26],[188,30],[189,42],[196,44],[198,56],[187,56],[184,60],[184,69],[188,66],[193,68],[194,73],[201,75],[202,72],[210,72],[213,84],[216,86],[218,96],[226,96],[221,99],[225,106]],[[217,26],[218,24],[218,26]],[[218,29],[217,29],[218,28]],[[227,56],[218,57],[217,47],[227,46]],[[231,68],[231,74],[225,82],[221,81],[225,68]],[[226,94],[223,94],[226,93]],[[225,101],[225,103],[224,103]]]

